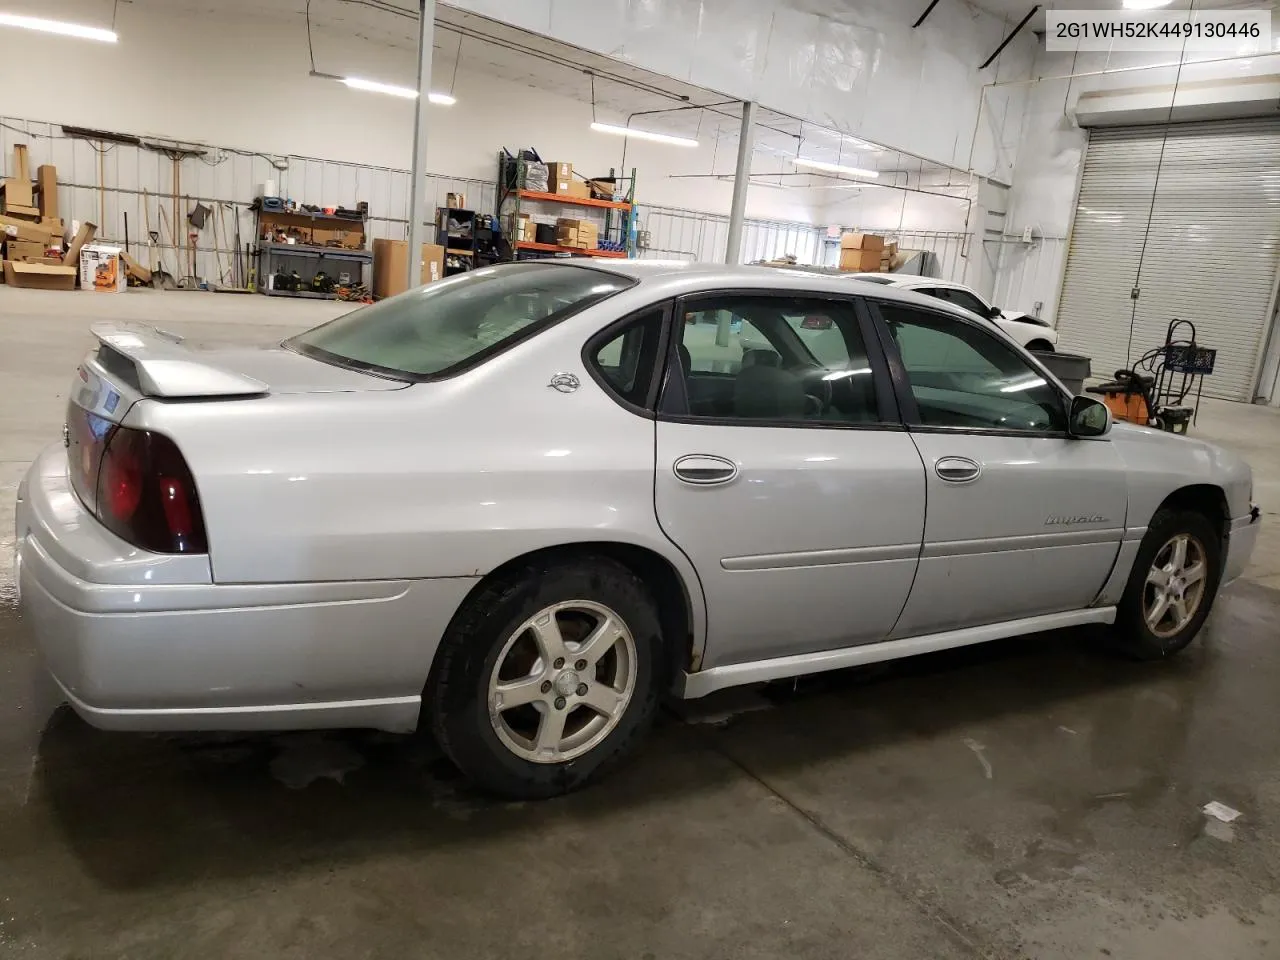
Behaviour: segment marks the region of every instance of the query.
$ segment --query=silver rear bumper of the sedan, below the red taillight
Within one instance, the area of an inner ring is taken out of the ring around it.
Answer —
[[[440,636],[475,582],[173,582],[174,561],[198,576],[207,557],[113,536],[70,490],[60,447],[20,497],[24,620],[68,701],[106,730],[413,730]]]

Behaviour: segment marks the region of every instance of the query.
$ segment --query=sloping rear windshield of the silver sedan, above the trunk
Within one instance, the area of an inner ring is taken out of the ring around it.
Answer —
[[[448,376],[632,283],[563,264],[483,268],[346,314],[284,346],[401,379]]]

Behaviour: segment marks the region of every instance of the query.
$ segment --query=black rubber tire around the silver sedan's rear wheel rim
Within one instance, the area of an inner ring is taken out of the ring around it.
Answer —
[[[562,763],[534,762],[494,730],[489,677],[521,623],[568,600],[603,604],[622,618],[635,644],[635,686],[617,724],[588,753]],[[622,564],[596,556],[532,563],[485,585],[454,616],[436,652],[424,709],[440,748],[480,788],[516,800],[567,794],[607,773],[648,732],[667,681],[662,644],[653,598]]]

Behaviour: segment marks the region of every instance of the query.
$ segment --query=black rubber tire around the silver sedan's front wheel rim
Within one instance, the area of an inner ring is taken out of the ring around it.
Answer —
[[[1148,598],[1147,575],[1165,545],[1179,534],[1194,538],[1203,549],[1204,594],[1196,614],[1188,623],[1169,636],[1157,635],[1147,623],[1146,600]],[[1116,622],[1112,628],[1115,646],[1121,653],[1139,660],[1160,660],[1183,650],[1213,609],[1217,588],[1222,576],[1222,531],[1217,530],[1203,515],[1185,509],[1162,509],[1156,513],[1147,529],[1147,535],[1138,549],[1124,596],[1116,608]]]

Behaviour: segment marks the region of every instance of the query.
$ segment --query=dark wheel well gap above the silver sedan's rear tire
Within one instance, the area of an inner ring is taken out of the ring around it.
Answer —
[[[658,607],[658,622],[662,625],[662,635],[668,639],[667,653],[672,669],[671,676],[676,677],[678,671],[691,669],[694,666],[692,600],[689,596],[684,579],[671,566],[671,562],[646,547],[605,540],[561,544],[532,550],[515,557],[490,571],[472,588],[471,594],[467,595],[467,600],[493,580],[508,576],[521,567],[527,567],[530,563],[564,563],[588,556],[608,557],[616,563],[621,563],[644,582],[653,594],[654,603]]]

